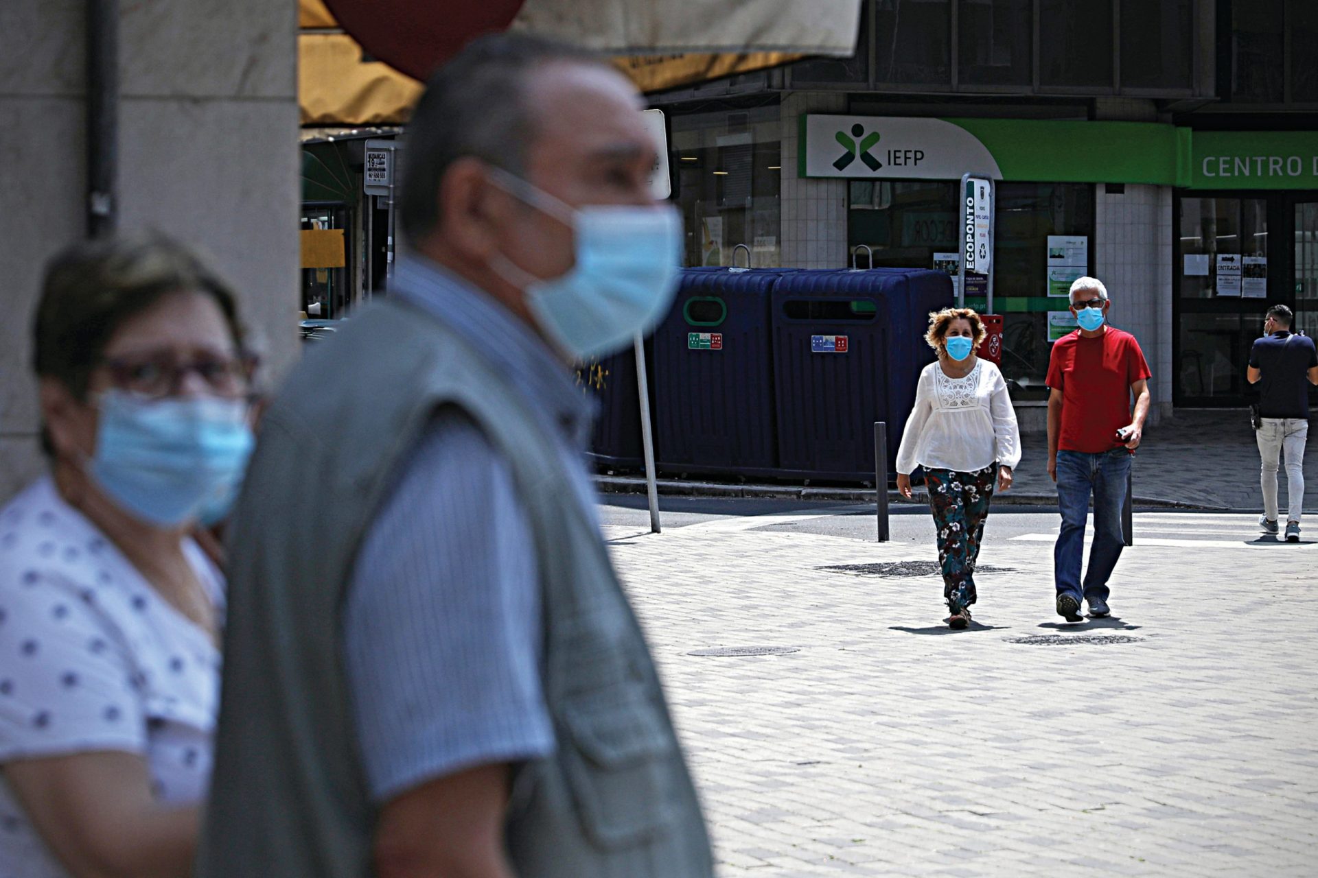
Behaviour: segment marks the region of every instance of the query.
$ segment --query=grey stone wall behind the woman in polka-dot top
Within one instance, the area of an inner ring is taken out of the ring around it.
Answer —
[[[295,3],[120,5],[119,217],[203,251],[269,376],[297,355]],[[0,4],[0,502],[41,470],[30,325],[45,261],[86,230],[84,4]]]

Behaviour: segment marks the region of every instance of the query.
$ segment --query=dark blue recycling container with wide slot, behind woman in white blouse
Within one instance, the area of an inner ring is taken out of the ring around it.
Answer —
[[[772,291],[779,475],[874,480],[874,423],[896,461],[929,312],[953,304],[952,278],[923,269],[797,271]]]

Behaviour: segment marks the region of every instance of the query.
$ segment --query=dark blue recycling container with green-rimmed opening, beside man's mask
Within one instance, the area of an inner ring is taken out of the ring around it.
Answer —
[[[654,334],[655,449],[670,473],[774,475],[778,269],[684,269]]]

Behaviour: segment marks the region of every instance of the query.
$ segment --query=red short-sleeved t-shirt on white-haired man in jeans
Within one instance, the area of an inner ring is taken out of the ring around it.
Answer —
[[[1098,454],[1120,448],[1116,430],[1131,423],[1131,384],[1149,378],[1135,336],[1107,326],[1098,338],[1079,330],[1053,342],[1048,387],[1062,392],[1060,452]]]

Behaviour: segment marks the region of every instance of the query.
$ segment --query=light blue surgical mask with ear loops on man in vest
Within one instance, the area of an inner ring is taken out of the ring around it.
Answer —
[[[563,276],[540,280],[503,257],[492,263],[526,292],[536,324],[561,353],[589,359],[621,350],[668,312],[681,261],[681,217],[675,208],[573,208],[506,171],[493,171],[492,179],[572,226],[576,263]]]

